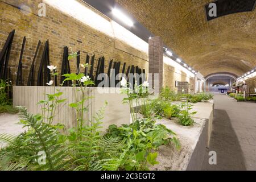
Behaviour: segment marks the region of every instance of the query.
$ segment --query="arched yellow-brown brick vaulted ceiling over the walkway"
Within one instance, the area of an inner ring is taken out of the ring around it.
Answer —
[[[115,0],[204,76],[256,66],[256,10],[207,22],[212,0]]]

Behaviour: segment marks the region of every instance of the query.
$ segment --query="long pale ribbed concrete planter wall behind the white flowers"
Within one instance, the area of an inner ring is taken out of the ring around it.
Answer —
[[[67,128],[75,127],[76,110],[70,107],[69,104],[76,102],[75,92],[78,88],[55,87],[55,89],[60,89],[60,92],[63,92],[59,99],[67,98],[67,101],[57,106],[53,123],[62,123]],[[108,106],[102,120],[102,131],[108,129],[108,126],[112,124],[117,126],[129,124],[129,105],[122,104],[125,95],[116,93],[118,90],[117,88],[101,88],[100,90],[98,88],[87,88],[86,96],[93,98],[85,102],[85,106],[88,107],[88,112],[84,115],[85,121],[93,121],[93,116],[107,101]],[[46,99],[45,93],[53,92],[54,88],[49,86],[13,86],[13,105],[25,106],[31,114],[42,113],[41,106],[37,103]],[[78,98],[81,98],[81,94],[78,95]]]

